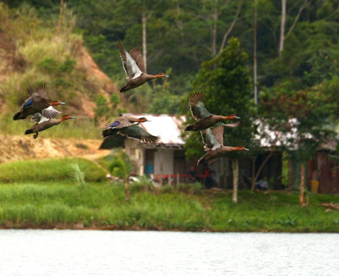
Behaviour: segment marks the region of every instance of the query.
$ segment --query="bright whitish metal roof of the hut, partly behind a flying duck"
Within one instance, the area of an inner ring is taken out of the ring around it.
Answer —
[[[185,142],[180,137],[180,126],[186,121],[184,115],[168,115],[168,114],[133,114],[124,113],[123,115],[130,115],[136,118],[145,117],[151,122],[140,123],[139,126],[148,133],[158,136],[160,140],[155,144],[163,144],[166,146],[182,146]],[[146,143],[145,143],[146,144]]]

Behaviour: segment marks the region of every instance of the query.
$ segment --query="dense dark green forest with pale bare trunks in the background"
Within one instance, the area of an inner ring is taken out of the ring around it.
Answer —
[[[19,9],[23,5],[20,0],[4,2]],[[125,94],[142,111],[178,112],[179,98],[190,91],[201,62],[218,55],[232,36],[239,38],[249,55],[247,66],[253,75],[255,17],[259,90],[285,81],[291,89],[305,89],[339,73],[337,0],[61,2],[64,14],[75,15],[68,19],[74,20],[94,60],[118,85],[124,82],[116,47],[119,40],[128,50],[139,46],[147,53],[149,73],[171,75],[166,86],[159,81]],[[44,22],[57,24],[60,0],[25,3]],[[65,16],[63,20],[67,21]]]

